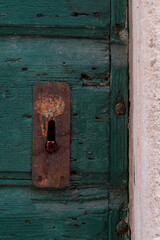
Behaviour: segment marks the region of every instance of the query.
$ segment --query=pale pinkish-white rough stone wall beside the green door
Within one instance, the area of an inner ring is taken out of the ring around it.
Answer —
[[[160,0],[130,1],[130,225],[160,240]]]

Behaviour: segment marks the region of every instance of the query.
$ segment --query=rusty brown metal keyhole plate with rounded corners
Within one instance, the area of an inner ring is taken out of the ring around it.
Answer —
[[[70,91],[66,83],[34,87],[32,178],[36,187],[69,184]]]

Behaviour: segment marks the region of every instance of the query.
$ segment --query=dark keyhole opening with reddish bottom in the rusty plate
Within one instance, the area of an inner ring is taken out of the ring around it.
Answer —
[[[58,146],[56,143],[56,127],[55,121],[50,120],[48,122],[48,134],[47,134],[47,142],[46,142],[46,151],[48,153],[54,153],[58,150]]]

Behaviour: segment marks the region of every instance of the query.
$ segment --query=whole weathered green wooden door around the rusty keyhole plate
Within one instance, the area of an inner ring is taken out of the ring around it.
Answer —
[[[0,1],[0,239],[127,234],[127,0]],[[33,86],[71,92],[71,179],[32,182]]]

